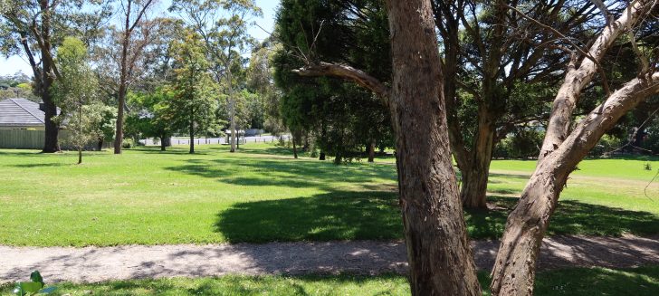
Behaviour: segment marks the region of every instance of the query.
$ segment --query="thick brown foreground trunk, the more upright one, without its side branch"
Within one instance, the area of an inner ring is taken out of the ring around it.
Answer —
[[[432,5],[387,0],[391,113],[414,295],[480,295],[451,160]],[[418,137],[425,135],[425,137]]]

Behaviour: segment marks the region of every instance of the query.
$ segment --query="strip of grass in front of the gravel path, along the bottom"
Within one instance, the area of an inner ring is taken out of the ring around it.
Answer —
[[[479,274],[483,295],[489,295],[489,278]],[[408,295],[406,278],[395,274],[379,276],[309,275],[242,276],[220,278],[173,278],[101,282],[58,283],[55,295]],[[0,289],[9,293],[10,286]],[[636,295],[659,294],[659,266],[626,270],[571,268],[540,272],[535,295]]]

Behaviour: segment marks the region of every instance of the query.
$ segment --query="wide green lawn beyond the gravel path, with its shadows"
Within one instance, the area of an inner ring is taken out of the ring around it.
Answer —
[[[293,160],[287,148],[248,144],[85,154],[0,150],[0,244],[117,245],[402,237],[391,159],[334,166]],[[644,187],[657,159],[587,160],[550,234],[659,233],[659,184]],[[491,212],[467,213],[475,238],[501,234],[534,167],[493,161]],[[652,199],[651,199],[652,198]]]

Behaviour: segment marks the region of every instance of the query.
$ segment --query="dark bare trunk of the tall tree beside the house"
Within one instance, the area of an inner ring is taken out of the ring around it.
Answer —
[[[49,13],[48,1],[42,0],[40,2],[42,9],[42,39],[43,46],[42,56],[45,57],[50,54],[51,50],[51,14]],[[44,153],[53,153],[60,150],[60,145],[58,143],[58,134],[60,127],[53,121],[53,118],[57,116],[57,106],[53,100],[53,95],[51,94],[51,85],[53,85],[53,63],[50,59],[42,59],[43,71],[42,74],[42,89],[41,97],[43,100],[43,113],[44,113],[44,126],[45,126],[45,139],[43,142],[43,152]]]

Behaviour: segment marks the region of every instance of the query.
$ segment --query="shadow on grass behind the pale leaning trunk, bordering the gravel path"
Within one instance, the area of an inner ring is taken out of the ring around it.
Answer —
[[[473,238],[498,238],[503,234],[506,219],[518,198],[489,196],[494,209],[468,209],[465,219]],[[659,233],[659,216],[643,211],[629,211],[605,205],[591,205],[573,200],[559,201],[551,217],[548,234],[584,234],[620,236]]]

